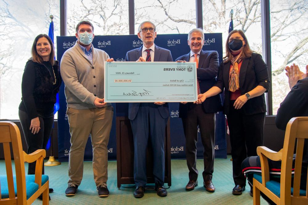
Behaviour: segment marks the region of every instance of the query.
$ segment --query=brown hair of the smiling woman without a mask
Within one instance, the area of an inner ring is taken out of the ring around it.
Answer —
[[[43,63],[43,58],[38,54],[38,52],[36,51],[36,44],[39,41],[40,38],[47,38],[47,40],[49,41],[50,44],[50,55],[49,55],[49,62],[51,63],[51,65],[55,64],[55,46],[52,43],[50,37],[46,34],[39,34],[37,37],[35,37],[33,45],[32,45],[32,49],[31,49],[31,60],[33,62],[36,63]]]

